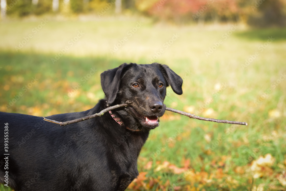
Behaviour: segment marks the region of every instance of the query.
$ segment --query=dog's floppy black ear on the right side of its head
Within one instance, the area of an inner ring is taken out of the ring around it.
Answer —
[[[158,63],[156,63],[158,64]],[[183,80],[182,78],[176,74],[173,70],[169,68],[169,66],[165,64],[158,64],[159,68],[161,69],[166,81],[167,81],[167,86],[171,86],[172,90],[178,94],[181,95],[183,93],[182,90],[182,84]]]

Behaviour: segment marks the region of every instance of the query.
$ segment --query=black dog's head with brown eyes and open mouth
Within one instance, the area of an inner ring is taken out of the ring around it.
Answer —
[[[166,87],[182,94],[183,80],[167,65],[122,64],[101,75],[101,86],[109,106],[127,103],[116,111],[131,130],[154,129],[165,112]]]

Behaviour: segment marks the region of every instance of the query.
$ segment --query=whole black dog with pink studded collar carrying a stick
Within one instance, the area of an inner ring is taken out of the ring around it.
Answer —
[[[165,112],[166,87],[182,94],[182,78],[166,65],[125,63],[103,72],[101,85],[106,99],[94,108],[47,119],[69,121],[120,103],[130,107],[64,127],[0,112],[2,147],[7,143],[0,149],[0,182],[22,191],[125,190],[138,176],[149,131]]]

